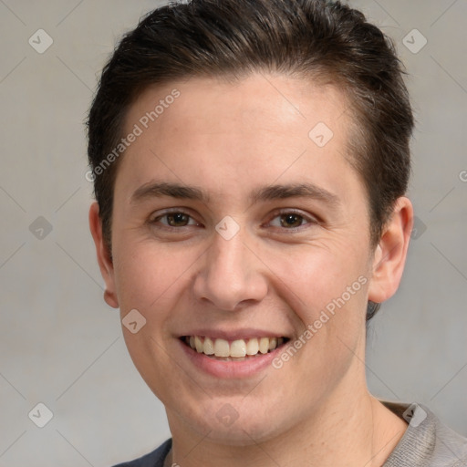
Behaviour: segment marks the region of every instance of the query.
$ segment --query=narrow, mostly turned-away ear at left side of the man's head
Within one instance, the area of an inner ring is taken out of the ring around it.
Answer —
[[[112,308],[118,308],[119,299],[115,288],[113,263],[110,258],[109,248],[103,241],[102,223],[99,217],[99,204],[97,202],[93,202],[89,208],[89,229],[94,239],[94,244],[96,244],[100,274],[106,283],[104,300]]]

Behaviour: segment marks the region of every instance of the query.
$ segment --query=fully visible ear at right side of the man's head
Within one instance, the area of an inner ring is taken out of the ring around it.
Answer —
[[[396,293],[404,270],[412,228],[413,207],[410,200],[402,196],[396,201],[392,216],[375,250],[368,300],[382,303]]]

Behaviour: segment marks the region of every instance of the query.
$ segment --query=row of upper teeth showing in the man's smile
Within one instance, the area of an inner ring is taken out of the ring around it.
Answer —
[[[282,345],[284,337],[254,337],[247,341],[237,339],[229,344],[229,341],[225,339],[190,336],[188,342],[190,347],[196,349],[198,353],[214,355],[215,357],[241,358],[247,355],[256,355],[258,352],[266,354]]]

